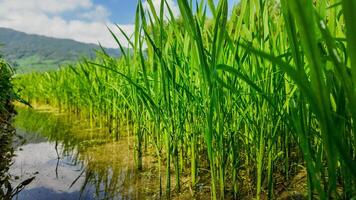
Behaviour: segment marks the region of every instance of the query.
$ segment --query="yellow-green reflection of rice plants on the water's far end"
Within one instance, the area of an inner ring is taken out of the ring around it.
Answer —
[[[71,155],[76,149],[82,150],[108,142],[103,130],[84,130],[87,123],[70,125],[74,122],[73,116],[56,116],[53,112],[38,112],[20,107],[17,112],[14,125],[26,132],[27,138],[31,141],[46,138],[49,142],[60,143],[63,147],[61,153],[65,155]]]

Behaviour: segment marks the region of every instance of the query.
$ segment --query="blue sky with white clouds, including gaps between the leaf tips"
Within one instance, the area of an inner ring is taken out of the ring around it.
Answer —
[[[152,1],[158,10],[161,0]],[[232,8],[238,0],[228,1]],[[176,0],[167,3],[179,16]],[[117,48],[107,27],[122,44],[127,44],[115,24],[131,35],[136,5],[137,0],[0,0],[0,27]]]

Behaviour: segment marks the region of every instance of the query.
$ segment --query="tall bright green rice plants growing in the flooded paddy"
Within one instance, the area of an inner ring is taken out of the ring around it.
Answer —
[[[178,0],[180,18],[147,2],[133,54],[21,76],[22,95],[116,139],[131,127],[138,169],[153,148],[166,196],[189,174],[193,189],[210,181],[213,199],[275,199],[303,172],[308,199],[356,195],[353,0],[241,0],[231,15],[227,0],[194,12]]]

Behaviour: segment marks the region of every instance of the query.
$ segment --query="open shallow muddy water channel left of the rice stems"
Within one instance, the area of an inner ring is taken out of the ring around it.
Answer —
[[[155,171],[137,173],[132,137],[113,141],[105,129],[47,109],[17,108],[13,185],[35,177],[15,199],[150,199]]]

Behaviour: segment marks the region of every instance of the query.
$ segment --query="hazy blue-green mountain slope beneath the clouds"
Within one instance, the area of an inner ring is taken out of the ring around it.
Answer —
[[[55,70],[59,65],[73,63],[82,57],[95,57],[100,47],[70,39],[57,39],[26,34],[0,27],[0,54],[10,62],[18,73]],[[118,57],[118,49],[105,48]]]

